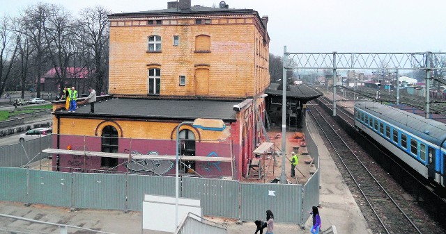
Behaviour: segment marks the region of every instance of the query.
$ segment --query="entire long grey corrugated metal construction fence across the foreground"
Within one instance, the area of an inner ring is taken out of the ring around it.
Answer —
[[[318,205],[319,170],[305,185],[180,178],[180,197],[201,200],[203,215],[254,221],[272,210],[275,221],[303,224]],[[0,167],[1,201],[67,208],[142,210],[144,194],[175,196],[175,178],[134,174],[65,173]],[[315,197],[317,199],[315,199]]]

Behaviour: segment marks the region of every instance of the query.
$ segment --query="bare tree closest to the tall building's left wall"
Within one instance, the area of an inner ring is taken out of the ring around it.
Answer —
[[[108,43],[109,43],[109,21],[107,14],[109,10],[102,6],[86,8],[80,12],[77,22],[77,40],[84,44],[87,53],[93,58],[93,74],[96,92],[104,90],[107,82]]]

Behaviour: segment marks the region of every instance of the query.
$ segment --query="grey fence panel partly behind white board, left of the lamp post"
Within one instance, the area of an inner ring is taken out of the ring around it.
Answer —
[[[128,210],[142,210],[144,194],[175,197],[175,177],[128,175]]]

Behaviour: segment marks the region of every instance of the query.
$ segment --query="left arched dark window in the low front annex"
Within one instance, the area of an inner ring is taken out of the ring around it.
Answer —
[[[114,126],[105,126],[101,135],[101,151],[105,153],[118,153],[118,131]],[[102,157],[100,160],[101,167],[118,166],[118,158]]]

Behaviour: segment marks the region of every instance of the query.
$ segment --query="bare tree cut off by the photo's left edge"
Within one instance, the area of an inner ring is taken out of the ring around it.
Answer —
[[[11,22],[9,17],[0,19],[0,97],[10,78],[11,69],[17,56],[18,43],[9,22]]]

